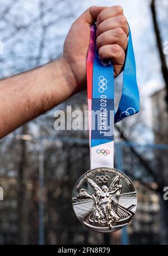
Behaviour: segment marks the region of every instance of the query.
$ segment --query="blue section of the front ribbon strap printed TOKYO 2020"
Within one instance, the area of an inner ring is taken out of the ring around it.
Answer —
[[[113,75],[111,75],[113,74]],[[92,118],[91,147],[114,140],[114,68],[112,64],[104,66],[96,50],[92,83],[92,110],[100,111],[96,119]],[[111,113],[111,111],[113,111]],[[101,119],[101,113],[105,117]],[[111,117],[112,114],[112,117]],[[102,121],[101,121],[102,120]],[[113,123],[110,123],[110,122]],[[103,124],[105,123],[105,125]],[[94,127],[95,125],[95,127]],[[101,127],[105,129],[101,129]],[[109,133],[110,134],[109,135]]]

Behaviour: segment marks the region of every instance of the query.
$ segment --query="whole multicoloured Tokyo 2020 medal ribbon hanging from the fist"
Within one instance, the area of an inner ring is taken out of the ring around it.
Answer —
[[[139,91],[132,36],[129,29],[123,72],[123,90],[118,110],[114,109],[114,68],[102,63],[96,49],[95,25],[91,26],[87,58],[88,125],[91,169],[114,167],[114,123],[139,111]]]

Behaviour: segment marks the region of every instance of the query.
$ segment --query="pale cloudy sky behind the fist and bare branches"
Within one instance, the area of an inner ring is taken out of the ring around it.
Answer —
[[[55,5],[53,5],[54,2]],[[119,4],[123,7],[124,15],[127,17],[130,29],[132,30],[134,53],[137,63],[137,81],[141,96],[141,106],[143,109],[142,113],[144,115],[144,120],[147,120],[147,125],[151,127],[151,95],[154,92],[162,89],[164,87],[164,82],[162,80],[160,61],[156,48],[156,38],[155,34],[153,33],[150,2],[151,0],[76,0],[72,2],[69,0],[71,8],[72,10],[75,10],[76,15],[74,15],[74,18],[71,17],[67,18],[66,20],[61,19],[60,22],[54,22],[53,26],[50,27],[47,41],[45,42],[43,58],[41,58],[40,64],[47,62],[49,57],[54,58],[55,52],[60,53],[62,51],[64,39],[66,38],[66,34],[71,27],[72,22],[79,15],[81,15],[81,13],[86,10],[86,8],[93,5],[114,6],[115,4]],[[4,1],[4,3],[4,6],[6,6],[6,1]],[[60,13],[64,10],[62,15],[68,11],[66,10],[66,3],[63,0],[60,2],[59,7],[57,1],[48,0],[47,3],[48,5],[52,4],[53,6],[52,15],[54,15],[54,8],[56,7],[60,10]],[[0,40],[1,37],[3,38],[4,33],[8,34],[8,32],[13,29],[13,22],[16,22],[17,25],[24,25],[27,21],[33,20],[33,18],[38,15],[39,12],[38,4],[39,0],[29,0],[27,2],[24,0],[18,1],[18,4],[16,4],[13,9],[13,12],[16,13],[15,16],[12,16],[12,18],[14,17],[14,20],[10,20],[11,17],[8,17],[11,24],[8,26],[0,24],[0,30],[2,26],[3,31],[3,33],[0,34]],[[51,16],[51,13],[49,14]],[[3,73],[3,76],[11,75],[11,72],[20,72],[22,71],[23,67],[25,69],[29,69],[36,66],[35,62],[25,62],[23,56],[25,55],[26,58],[31,58],[36,56],[36,52],[38,52],[35,46],[39,46],[38,40],[40,39],[41,33],[38,24],[33,24],[32,22],[30,31],[27,34],[24,33],[24,36],[23,33],[24,31],[17,32],[16,38],[13,38],[13,40],[10,40],[9,43],[4,44],[3,58],[6,59],[6,66],[2,66],[0,71],[0,73]],[[58,42],[55,42],[55,35],[58,35]],[[59,35],[60,39],[58,39]],[[168,36],[166,38],[166,33],[164,34],[164,40],[168,41]],[[21,58],[19,57],[20,55]],[[13,56],[15,56],[15,58]],[[29,66],[30,63],[31,66]],[[152,138],[147,134],[147,139],[149,138],[152,141]],[[146,141],[145,137],[144,141]]]

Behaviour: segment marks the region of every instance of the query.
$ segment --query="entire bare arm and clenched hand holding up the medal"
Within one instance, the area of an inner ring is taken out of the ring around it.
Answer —
[[[90,7],[72,25],[60,59],[0,81],[0,137],[86,90],[90,27],[96,22],[101,60],[110,59],[114,76],[122,71],[129,28],[120,6]],[[79,36],[80,35],[80,36]]]

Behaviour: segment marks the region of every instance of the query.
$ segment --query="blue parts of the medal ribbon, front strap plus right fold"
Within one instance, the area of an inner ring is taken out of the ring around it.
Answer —
[[[114,130],[114,123],[117,123],[130,115],[136,114],[139,111],[136,62],[134,58],[130,28],[123,72],[123,90],[116,113],[114,110],[114,67],[111,63],[106,65],[103,64],[100,61],[99,54],[96,49],[92,83],[92,110],[101,111],[103,110],[102,106],[104,106],[107,114],[105,126],[108,127],[108,129],[101,129],[101,123],[97,122],[97,119],[92,119],[91,147],[113,141],[114,134],[110,133],[107,135],[110,130],[109,127],[112,127]],[[113,115],[113,124],[110,124],[111,113]],[[96,127],[93,127],[93,125],[96,125]]]

